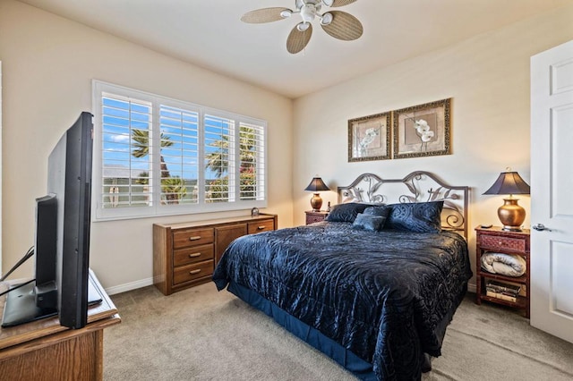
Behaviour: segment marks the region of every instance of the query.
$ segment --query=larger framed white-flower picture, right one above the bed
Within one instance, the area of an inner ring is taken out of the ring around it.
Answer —
[[[451,154],[451,98],[392,112],[394,158]]]

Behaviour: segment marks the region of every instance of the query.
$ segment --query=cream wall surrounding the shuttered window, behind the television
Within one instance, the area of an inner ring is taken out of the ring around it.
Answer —
[[[47,157],[81,111],[91,110],[94,78],[267,120],[272,155],[269,207],[263,211],[278,214],[280,227],[292,225],[290,99],[13,0],[0,1],[0,60],[4,71],[4,269],[12,267],[32,244],[34,199],[46,192]],[[218,216],[94,223],[90,266],[113,292],[149,284],[154,222]],[[31,275],[29,263],[11,277]]]

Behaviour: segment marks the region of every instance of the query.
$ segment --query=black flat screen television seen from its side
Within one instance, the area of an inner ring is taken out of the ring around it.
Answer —
[[[7,293],[3,327],[57,315],[81,328],[89,300],[100,301],[88,280],[92,131],[92,115],[81,113],[48,158],[47,195],[36,199],[36,281]]]

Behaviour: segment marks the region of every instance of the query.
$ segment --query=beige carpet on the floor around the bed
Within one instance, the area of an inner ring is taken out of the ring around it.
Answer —
[[[423,380],[571,380],[573,344],[469,294]],[[272,319],[214,284],[168,297],[112,296],[122,323],[104,334],[105,380],[355,380]]]

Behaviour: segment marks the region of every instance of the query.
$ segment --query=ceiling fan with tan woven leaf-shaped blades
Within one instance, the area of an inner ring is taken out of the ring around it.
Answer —
[[[356,0],[295,0],[295,11],[288,8],[262,8],[244,13],[241,21],[252,24],[288,19],[294,14],[300,14],[303,21],[295,25],[286,38],[286,50],[296,54],[306,47],[312,36],[314,19],[321,21],[321,27],[330,36],[346,41],[360,38],[363,33],[362,23],[350,13],[329,11],[321,13],[323,6],[335,8],[355,3]]]

